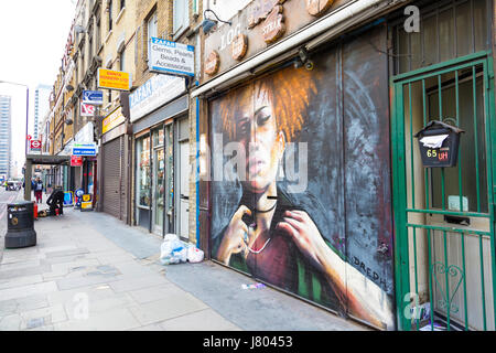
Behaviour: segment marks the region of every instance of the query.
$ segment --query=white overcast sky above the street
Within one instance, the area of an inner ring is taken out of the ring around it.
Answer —
[[[29,86],[33,131],[34,89],[52,86],[61,67],[76,0],[0,0],[0,81]],[[12,96],[12,158],[24,164],[25,87],[0,83]]]

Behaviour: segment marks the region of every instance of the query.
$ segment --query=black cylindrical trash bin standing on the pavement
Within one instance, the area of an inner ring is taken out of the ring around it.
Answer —
[[[36,245],[34,202],[19,201],[7,205],[6,248]]]

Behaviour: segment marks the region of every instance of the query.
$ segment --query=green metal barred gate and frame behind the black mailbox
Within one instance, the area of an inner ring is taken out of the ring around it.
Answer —
[[[495,330],[496,122],[490,53],[391,78],[400,330]],[[456,167],[424,168],[414,135],[463,129]]]

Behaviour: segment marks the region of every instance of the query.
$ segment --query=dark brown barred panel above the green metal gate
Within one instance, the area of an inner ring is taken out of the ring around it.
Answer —
[[[419,30],[406,30],[405,8],[391,25],[395,74],[490,49],[489,0],[420,1]]]

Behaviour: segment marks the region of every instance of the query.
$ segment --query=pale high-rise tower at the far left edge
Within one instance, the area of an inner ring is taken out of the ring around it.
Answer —
[[[10,178],[12,149],[11,115],[11,97],[0,96],[0,175],[7,178]]]

